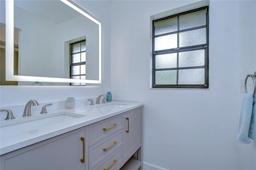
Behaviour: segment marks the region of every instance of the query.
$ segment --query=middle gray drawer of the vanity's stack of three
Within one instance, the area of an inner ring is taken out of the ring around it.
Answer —
[[[89,148],[89,166],[93,168],[107,156],[112,154],[117,148],[123,145],[123,130],[108,136]]]

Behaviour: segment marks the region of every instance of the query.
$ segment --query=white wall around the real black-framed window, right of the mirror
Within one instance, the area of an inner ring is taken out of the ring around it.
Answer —
[[[255,143],[241,146],[236,141],[241,105],[238,68],[246,65],[240,65],[238,50],[240,39],[245,39],[239,36],[241,2],[210,1],[210,90],[149,89],[150,16],[193,2],[112,1],[113,99],[145,104],[146,162],[167,169],[255,169]]]

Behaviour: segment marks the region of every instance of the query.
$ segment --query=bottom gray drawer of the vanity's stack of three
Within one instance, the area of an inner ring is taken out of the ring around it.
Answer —
[[[123,148],[122,146],[118,148],[114,153],[108,156],[105,160],[100,162],[92,170],[114,170],[123,161]]]

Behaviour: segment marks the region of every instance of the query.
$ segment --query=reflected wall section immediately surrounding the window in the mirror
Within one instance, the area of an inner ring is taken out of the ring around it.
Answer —
[[[69,77],[69,43],[80,41],[86,37],[86,79],[99,79],[99,27],[97,24],[80,15],[58,25],[59,61],[68,69],[61,71]],[[77,38],[80,38],[79,40]],[[65,43],[66,42],[66,43]],[[62,56],[65,56],[63,58]],[[64,69],[63,67],[59,67]]]

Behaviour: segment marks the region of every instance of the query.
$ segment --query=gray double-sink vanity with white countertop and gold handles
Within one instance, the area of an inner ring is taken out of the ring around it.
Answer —
[[[1,120],[0,168],[142,169],[142,106],[112,102]]]

